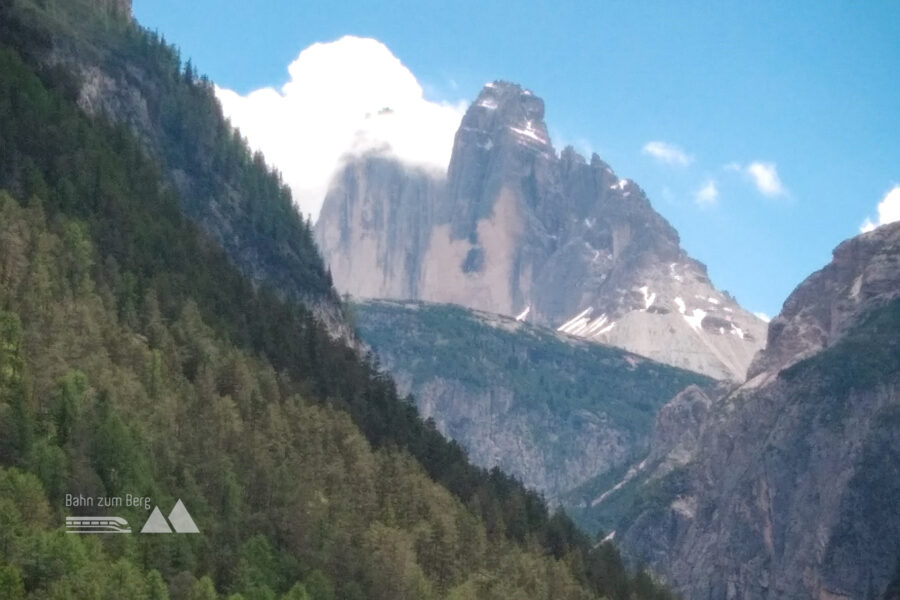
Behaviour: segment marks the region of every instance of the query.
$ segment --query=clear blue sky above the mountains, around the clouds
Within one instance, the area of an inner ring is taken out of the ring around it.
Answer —
[[[893,1],[134,0],[134,13],[238,94],[280,88],[301,50],[348,34],[386,45],[431,101],[521,83],[557,148],[636,181],[713,282],[770,315],[900,184]],[[653,141],[686,160],[660,160]],[[761,191],[754,163],[780,188]]]

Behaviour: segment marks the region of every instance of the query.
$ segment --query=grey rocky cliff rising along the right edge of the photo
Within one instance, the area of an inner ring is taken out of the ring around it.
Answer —
[[[689,598],[880,597],[900,560],[898,296],[900,224],[841,244],[752,379],[699,423],[663,418],[683,397],[662,409],[616,539]]]

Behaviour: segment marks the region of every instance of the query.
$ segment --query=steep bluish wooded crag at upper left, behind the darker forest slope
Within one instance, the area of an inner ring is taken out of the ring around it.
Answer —
[[[134,26],[121,2],[15,4],[27,29],[8,30],[4,39],[35,64],[66,73],[85,112],[126,125],[161,166],[185,214],[251,281],[302,300],[348,334],[310,223],[280,176],[223,118],[208,79],[189,61],[182,65],[165,40]]]

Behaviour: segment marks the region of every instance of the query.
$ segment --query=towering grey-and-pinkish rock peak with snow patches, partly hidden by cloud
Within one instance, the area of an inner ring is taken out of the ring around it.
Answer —
[[[446,174],[349,158],[316,236],[356,297],[520,317],[735,381],[765,341],[640,187],[596,154],[557,153],[543,101],[512,83],[469,107]]]

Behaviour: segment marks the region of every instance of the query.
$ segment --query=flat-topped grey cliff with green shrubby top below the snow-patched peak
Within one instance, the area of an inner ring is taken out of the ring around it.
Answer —
[[[477,465],[548,500],[647,453],[656,410],[712,380],[510,317],[420,301],[367,301],[363,341],[425,418]]]

